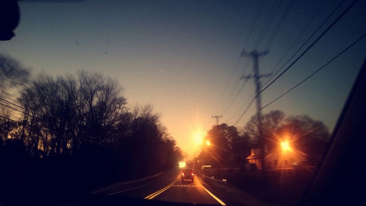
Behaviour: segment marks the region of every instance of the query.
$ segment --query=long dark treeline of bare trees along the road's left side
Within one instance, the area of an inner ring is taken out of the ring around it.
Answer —
[[[169,170],[182,159],[153,106],[127,106],[116,79],[81,70],[31,80],[14,59],[0,57],[2,73],[24,74],[4,77],[18,86],[17,101],[1,88],[0,158],[14,180],[24,170],[41,182],[44,175],[70,188],[85,183],[78,184],[86,191]]]

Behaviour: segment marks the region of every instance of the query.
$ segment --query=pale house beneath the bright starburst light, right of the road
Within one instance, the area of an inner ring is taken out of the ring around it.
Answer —
[[[250,155],[246,157],[248,163],[255,163],[258,169],[261,165],[261,149],[251,148]],[[275,147],[268,151],[267,146],[264,147],[264,161],[267,169],[280,169],[292,167],[294,161],[306,161],[307,155],[300,151],[295,151],[290,147]]]

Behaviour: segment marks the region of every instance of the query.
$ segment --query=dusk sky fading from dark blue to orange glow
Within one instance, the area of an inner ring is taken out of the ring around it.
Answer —
[[[345,0],[295,58],[351,2]],[[260,73],[276,71],[340,3],[341,0],[19,2],[21,19],[16,36],[0,42],[0,52],[32,68],[33,74],[58,76],[85,69],[117,78],[128,104],[154,105],[189,159],[198,152],[193,134],[205,133],[216,124],[212,115],[223,116],[220,124],[234,125],[253,98],[253,79],[239,90],[244,82],[240,80],[243,72],[253,74],[252,61],[240,58],[242,50],[268,50],[268,55],[259,58]],[[286,11],[288,15],[284,15]],[[364,11],[365,1],[357,2],[262,92],[262,105],[291,89],[361,37],[366,32]],[[261,44],[257,47],[258,43]],[[307,114],[323,121],[332,131],[365,55],[366,39],[362,39],[262,112]],[[294,58],[290,63],[293,61]],[[275,67],[277,63],[279,66]],[[267,79],[262,78],[261,82]],[[236,126],[243,128],[255,113],[253,104]]]

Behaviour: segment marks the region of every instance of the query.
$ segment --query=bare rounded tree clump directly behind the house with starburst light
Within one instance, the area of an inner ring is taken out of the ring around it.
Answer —
[[[262,118],[263,135],[269,150],[276,147],[284,139],[288,139],[293,147],[309,154],[309,161],[317,163],[329,141],[328,127],[321,121],[316,121],[307,115],[289,116],[285,118],[282,111],[270,111]],[[251,117],[243,129],[251,147],[256,147],[258,142],[257,115]]]

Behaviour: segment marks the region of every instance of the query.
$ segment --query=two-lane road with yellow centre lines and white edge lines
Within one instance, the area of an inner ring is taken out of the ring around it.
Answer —
[[[194,182],[181,183],[180,170],[173,170],[149,180],[137,181],[102,192],[104,195],[132,196],[167,202],[183,202],[193,204],[225,205],[208,188],[201,179]]]

